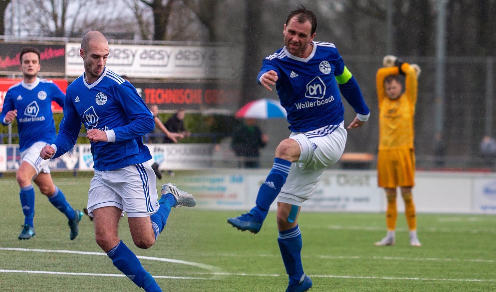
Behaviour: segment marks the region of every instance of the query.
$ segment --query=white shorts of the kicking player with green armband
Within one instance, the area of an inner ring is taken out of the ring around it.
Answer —
[[[301,206],[308,200],[317,188],[322,172],[343,154],[347,135],[344,122],[306,133],[291,133],[289,137],[300,145],[300,159],[291,164],[277,201]]]

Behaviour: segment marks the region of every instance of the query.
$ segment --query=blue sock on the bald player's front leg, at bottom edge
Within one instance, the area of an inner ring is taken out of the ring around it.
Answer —
[[[148,273],[136,255],[121,240],[107,255],[119,271],[145,291],[162,291],[155,279]]]

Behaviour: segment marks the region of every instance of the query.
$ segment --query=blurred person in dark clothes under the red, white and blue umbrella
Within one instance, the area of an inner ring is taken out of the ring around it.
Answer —
[[[233,132],[231,148],[238,159],[244,159],[245,168],[258,168],[260,148],[265,147],[268,140],[268,136],[262,134],[256,125],[256,119],[245,118],[244,122]],[[238,167],[241,167],[241,161],[238,162]]]

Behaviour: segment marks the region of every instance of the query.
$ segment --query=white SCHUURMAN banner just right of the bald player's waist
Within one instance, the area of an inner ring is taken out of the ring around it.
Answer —
[[[146,144],[161,170],[200,170],[212,167],[214,144]]]

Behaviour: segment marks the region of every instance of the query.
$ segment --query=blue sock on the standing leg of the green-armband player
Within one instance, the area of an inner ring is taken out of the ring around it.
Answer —
[[[289,275],[289,284],[298,284],[303,276],[302,234],[297,225],[290,230],[279,231],[277,238],[281,250],[282,261]]]

